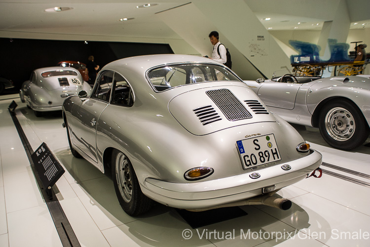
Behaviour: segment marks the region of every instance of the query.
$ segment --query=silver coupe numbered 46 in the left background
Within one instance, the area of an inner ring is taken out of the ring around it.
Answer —
[[[19,96],[40,117],[41,112],[62,110],[64,100],[81,90],[90,94],[92,88],[78,70],[46,67],[31,73],[30,80],[23,82]]]

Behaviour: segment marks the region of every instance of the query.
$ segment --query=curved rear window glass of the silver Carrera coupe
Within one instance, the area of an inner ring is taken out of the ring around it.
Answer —
[[[215,64],[177,64],[152,69],[148,78],[155,90],[164,91],[171,87],[199,82],[237,81],[231,71]]]

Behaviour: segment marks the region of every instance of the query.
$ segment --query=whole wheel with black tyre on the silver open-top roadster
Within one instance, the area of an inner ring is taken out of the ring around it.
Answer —
[[[331,146],[351,150],[363,144],[369,136],[369,126],[361,111],[347,100],[334,101],[320,112],[319,129]]]

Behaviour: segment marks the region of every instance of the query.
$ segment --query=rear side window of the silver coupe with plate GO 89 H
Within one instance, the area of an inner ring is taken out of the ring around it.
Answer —
[[[134,104],[134,97],[130,85],[119,74],[114,75],[115,86],[111,104],[120,106],[132,106]]]

